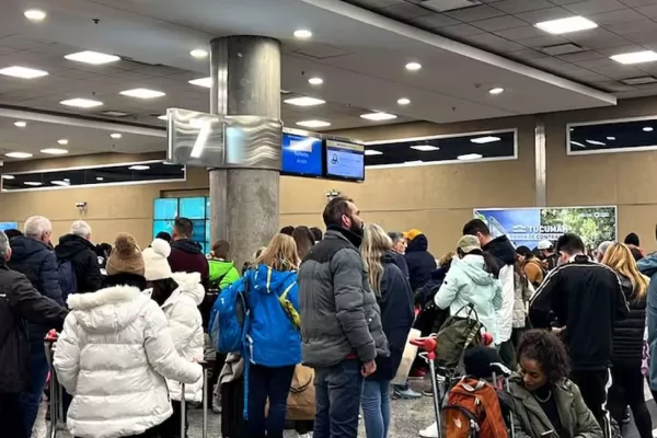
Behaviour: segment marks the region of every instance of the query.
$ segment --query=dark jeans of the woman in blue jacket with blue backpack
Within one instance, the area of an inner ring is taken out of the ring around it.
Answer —
[[[283,438],[287,397],[295,366],[270,368],[251,364],[249,368],[249,438]],[[265,422],[265,404],[269,414]]]

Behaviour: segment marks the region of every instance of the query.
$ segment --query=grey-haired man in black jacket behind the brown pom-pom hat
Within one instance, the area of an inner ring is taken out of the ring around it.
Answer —
[[[70,233],[59,238],[55,255],[64,298],[70,293],[95,292],[101,288],[103,275],[95,246],[91,243],[89,223],[83,220],[74,221]]]

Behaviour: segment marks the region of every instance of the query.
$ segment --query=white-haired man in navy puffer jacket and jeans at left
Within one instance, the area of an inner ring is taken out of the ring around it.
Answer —
[[[50,251],[53,224],[42,216],[33,216],[25,221],[24,235],[11,240],[12,254],[9,267],[23,274],[41,295],[64,304],[57,276],[57,257]],[[21,394],[21,407],[25,430],[32,426],[38,413],[48,362],[44,351],[44,336],[51,328],[48,325],[30,323],[30,385]]]

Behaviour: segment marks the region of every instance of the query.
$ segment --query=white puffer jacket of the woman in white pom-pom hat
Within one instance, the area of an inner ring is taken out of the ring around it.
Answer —
[[[205,288],[200,284],[198,273],[176,273],[172,278],[178,288],[162,304],[169,320],[169,331],[178,355],[189,361],[201,361],[204,351],[203,319],[198,306],[205,297]],[[182,384],[166,379],[169,392],[173,400],[181,400]],[[203,381],[185,385],[185,400],[200,402],[203,400]]]

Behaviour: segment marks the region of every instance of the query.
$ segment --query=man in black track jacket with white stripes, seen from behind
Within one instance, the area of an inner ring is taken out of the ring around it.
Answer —
[[[618,275],[584,253],[578,235],[564,234],[556,245],[560,265],[530,301],[534,328],[554,325],[572,362],[570,379],[603,430],[613,327],[630,309]]]

